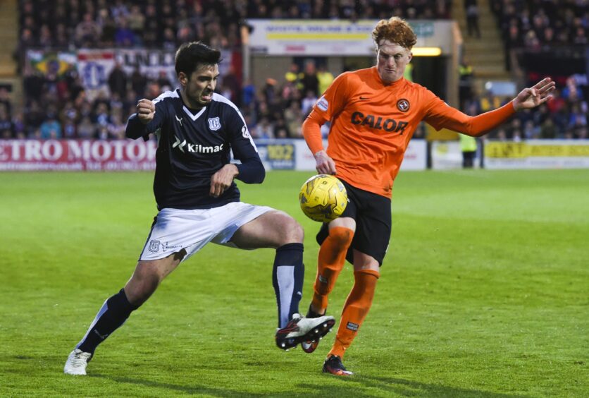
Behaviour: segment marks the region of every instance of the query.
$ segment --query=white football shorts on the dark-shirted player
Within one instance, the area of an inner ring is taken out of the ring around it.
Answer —
[[[151,226],[139,259],[157,260],[185,249],[184,261],[209,242],[236,247],[229,241],[235,231],[271,210],[243,202],[212,209],[163,209]]]

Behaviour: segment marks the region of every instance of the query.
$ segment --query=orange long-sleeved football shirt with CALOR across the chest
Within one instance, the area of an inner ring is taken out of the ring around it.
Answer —
[[[338,76],[303,123],[314,154],[323,149],[321,125],[331,122],[327,154],[337,176],[356,188],[390,198],[405,150],[420,121],[437,130],[450,128],[482,135],[514,114],[500,109],[468,116],[423,86],[401,78],[385,85],[376,66]]]

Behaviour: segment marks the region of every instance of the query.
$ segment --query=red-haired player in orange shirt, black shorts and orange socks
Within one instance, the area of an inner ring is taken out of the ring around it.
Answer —
[[[354,265],[354,287],[342,310],[335,343],[323,372],[347,376],[342,356],[356,337],[371,308],[380,265],[391,229],[392,183],[419,123],[450,128],[479,137],[521,109],[550,99],[554,82],[545,78],[523,89],[511,102],[478,116],[450,107],[423,86],[403,78],[411,61],[416,35],[404,20],[380,20],[372,32],[376,66],[342,73],[316,102],[303,123],[303,135],[323,174],[336,174],[347,189],[349,204],[341,217],[323,224],[317,235],[318,255],[314,296],[307,317],[325,314],[328,295],[345,260]],[[327,151],[321,125],[331,122]],[[312,352],[317,343],[306,342]]]

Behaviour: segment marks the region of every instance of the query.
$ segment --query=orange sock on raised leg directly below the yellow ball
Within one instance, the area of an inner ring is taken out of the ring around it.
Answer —
[[[320,313],[327,308],[328,295],[344,267],[347,249],[352,244],[353,238],[352,229],[334,227],[329,230],[329,236],[321,243],[317,276],[313,285],[315,293],[311,301],[315,308],[321,308]]]

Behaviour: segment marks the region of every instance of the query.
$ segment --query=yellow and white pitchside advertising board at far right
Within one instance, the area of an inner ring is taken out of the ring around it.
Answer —
[[[589,167],[589,140],[528,140],[485,143],[487,169],[576,169]]]

